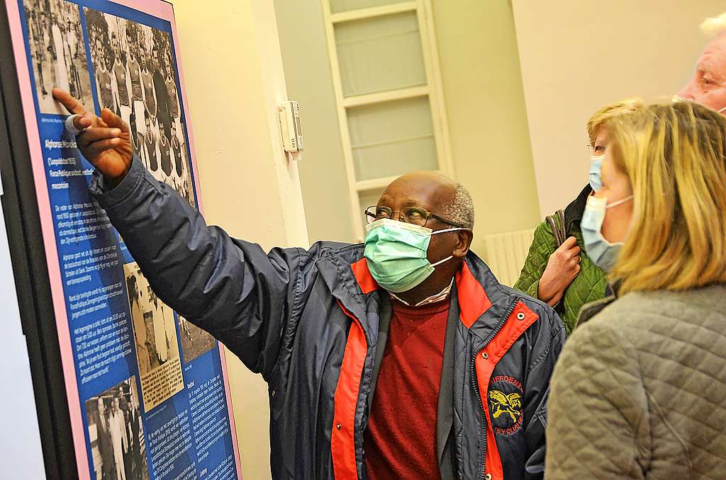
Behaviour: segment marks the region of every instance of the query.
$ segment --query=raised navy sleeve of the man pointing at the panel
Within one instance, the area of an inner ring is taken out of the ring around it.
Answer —
[[[265,378],[274,368],[296,293],[300,249],[234,240],[137,158],[110,191],[94,173],[91,194],[121,233],[152,289],[167,305],[210,332]]]

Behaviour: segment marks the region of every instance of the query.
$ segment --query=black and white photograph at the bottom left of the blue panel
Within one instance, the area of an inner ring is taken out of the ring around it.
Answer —
[[[136,376],[86,400],[98,480],[148,480],[144,426]]]

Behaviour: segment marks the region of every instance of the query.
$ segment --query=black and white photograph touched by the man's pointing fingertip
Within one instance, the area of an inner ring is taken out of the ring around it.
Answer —
[[[67,115],[52,96],[68,91],[93,110],[93,94],[78,5],[65,0],[23,0],[38,107],[42,113]]]

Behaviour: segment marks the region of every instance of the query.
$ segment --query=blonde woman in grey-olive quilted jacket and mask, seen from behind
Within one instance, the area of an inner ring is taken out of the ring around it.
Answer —
[[[552,376],[547,479],[726,479],[726,119],[616,117],[586,243],[617,299],[585,307]]]

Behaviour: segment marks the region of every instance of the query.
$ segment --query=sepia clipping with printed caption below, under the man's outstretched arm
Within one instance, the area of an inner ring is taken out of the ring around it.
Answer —
[[[139,375],[146,376],[169,360],[179,360],[174,310],[165,305],[149,286],[139,265],[123,266],[129,292]]]

